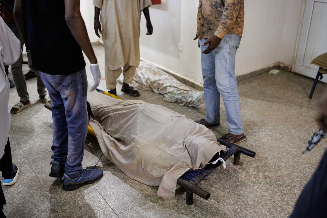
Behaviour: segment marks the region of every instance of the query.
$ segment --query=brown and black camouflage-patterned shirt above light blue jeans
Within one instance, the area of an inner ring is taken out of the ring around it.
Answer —
[[[228,33],[242,37],[244,0],[200,0],[197,36],[209,38],[215,34],[224,38]]]

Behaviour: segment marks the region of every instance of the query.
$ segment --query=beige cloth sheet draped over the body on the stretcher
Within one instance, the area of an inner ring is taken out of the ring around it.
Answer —
[[[175,196],[177,179],[203,168],[219,151],[216,137],[184,115],[144,101],[119,100],[89,92],[93,127],[102,152],[129,177]]]

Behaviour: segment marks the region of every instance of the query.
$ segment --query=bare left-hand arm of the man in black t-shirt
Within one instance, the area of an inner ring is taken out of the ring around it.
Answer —
[[[24,11],[23,11],[23,0],[15,0],[14,5],[14,18],[15,22],[18,28],[18,31],[20,35],[23,38],[23,41],[26,46],[26,50],[29,50],[29,44],[27,40],[27,34],[26,34],[26,26],[25,26],[25,17],[24,17]]]

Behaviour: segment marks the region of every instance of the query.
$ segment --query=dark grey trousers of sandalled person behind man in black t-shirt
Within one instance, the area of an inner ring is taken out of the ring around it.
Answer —
[[[24,42],[23,42],[22,37],[19,34],[16,24],[8,24],[7,23],[7,25],[9,26],[11,31],[15,34],[15,36],[19,39],[19,41],[22,44],[22,48],[23,48]],[[23,66],[23,55],[21,54],[21,56],[16,61],[16,63],[11,65],[11,73],[12,73],[12,77],[14,78],[14,83],[15,83],[18,95],[20,97],[20,101],[28,101],[29,95],[27,92],[27,86],[26,86],[26,81],[25,81],[22,66]],[[42,96],[46,95],[45,85],[43,84],[43,82],[39,76],[37,76],[37,80],[38,80],[37,81],[38,93],[39,93],[39,96],[42,97]]]

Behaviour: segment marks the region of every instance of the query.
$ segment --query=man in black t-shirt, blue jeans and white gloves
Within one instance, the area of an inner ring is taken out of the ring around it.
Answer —
[[[90,184],[102,169],[83,169],[88,127],[87,77],[82,50],[95,84],[101,73],[79,10],[79,0],[16,0],[14,17],[26,45],[29,68],[40,75],[52,100],[51,173],[64,190]]]

